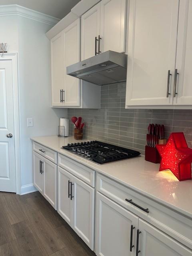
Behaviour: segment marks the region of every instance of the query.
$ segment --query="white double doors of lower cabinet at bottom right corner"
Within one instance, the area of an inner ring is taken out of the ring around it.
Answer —
[[[192,256],[192,250],[96,192],[97,256]]]

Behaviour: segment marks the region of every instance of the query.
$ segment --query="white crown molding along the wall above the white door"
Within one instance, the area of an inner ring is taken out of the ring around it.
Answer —
[[[18,15],[31,20],[36,20],[38,22],[42,22],[51,26],[54,26],[60,21],[60,19],[58,18],[28,9],[18,4],[0,6],[0,16],[13,16],[13,15]]]

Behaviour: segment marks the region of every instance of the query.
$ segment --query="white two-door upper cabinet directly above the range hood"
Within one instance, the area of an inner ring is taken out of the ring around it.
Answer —
[[[102,0],[81,17],[81,60],[125,52],[127,0]]]

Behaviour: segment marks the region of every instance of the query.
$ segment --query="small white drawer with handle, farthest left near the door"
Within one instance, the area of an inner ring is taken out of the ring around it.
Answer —
[[[33,150],[38,152],[40,155],[44,156],[48,160],[57,164],[57,152],[51,150],[50,148],[46,148],[45,146],[33,142]]]

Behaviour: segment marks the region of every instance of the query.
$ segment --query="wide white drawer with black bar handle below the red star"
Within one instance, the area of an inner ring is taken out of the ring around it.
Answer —
[[[101,174],[97,174],[96,189],[192,249],[192,219]],[[131,199],[137,206],[125,199]],[[144,209],[148,209],[148,213]]]

